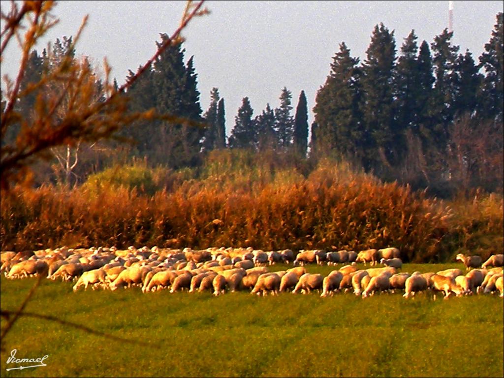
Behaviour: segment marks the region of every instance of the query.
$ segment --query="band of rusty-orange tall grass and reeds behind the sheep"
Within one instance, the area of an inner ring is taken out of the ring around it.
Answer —
[[[309,170],[233,151],[211,156],[198,176],[178,177],[185,180],[152,195],[107,180],[71,191],[14,190],[1,198],[1,247],[393,245],[412,262],[502,250],[502,196],[443,202],[344,162],[325,160]]]

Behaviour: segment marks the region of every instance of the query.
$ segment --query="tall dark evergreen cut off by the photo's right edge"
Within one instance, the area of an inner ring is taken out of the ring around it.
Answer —
[[[504,108],[504,16],[496,15],[496,24],[490,40],[485,44],[485,51],[479,57],[480,65],[485,70],[481,93],[481,114],[502,122]]]

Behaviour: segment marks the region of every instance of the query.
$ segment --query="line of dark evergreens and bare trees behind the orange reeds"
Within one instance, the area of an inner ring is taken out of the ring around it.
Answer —
[[[160,37],[158,47],[168,38]],[[90,173],[132,158],[150,166],[197,167],[209,151],[230,148],[275,151],[314,161],[334,156],[385,180],[438,191],[449,190],[450,185],[501,190],[502,13],[496,15],[479,62],[468,50],[460,53],[452,37],[453,32],[445,29],[430,46],[425,40],[418,45],[412,30],[398,54],[394,31],[381,23],[372,31],[362,62],[341,42],[327,80],[317,92],[310,140],[304,91],[292,114],[292,93],[286,87],[278,108],[268,103],[255,116],[249,98],[244,97],[227,137],[219,89],[212,89],[203,112],[194,56],[186,60],[182,43],[175,44],[121,93],[132,112],[153,109],[170,116],[140,118],[121,128],[114,140],[53,149],[52,164],[39,170],[40,180],[83,182]],[[57,39],[51,51],[33,50],[21,82],[27,95],[15,105],[20,113],[29,117],[39,106],[40,93],[65,86],[62,78],[57,85],[52,82],[30,90],[33,83],[60,68],[65,58],[93,70],[86,57],[76,57],[72,37]],[[127,82],[134,76],[130,71]],[[101,80],[96,74],[96,101],[105,96]],[[115,81],[114,87],[118,87]],[[16,139],[20,127],[9,129],[3,146]]]

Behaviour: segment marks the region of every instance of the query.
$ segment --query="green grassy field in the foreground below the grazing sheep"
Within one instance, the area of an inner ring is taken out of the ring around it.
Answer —
[[[403,271],[451,267],[461,264],[406,264]],[[2,309],[18,308],[34,282],[2,276]],[[26,310],[150,346],[21,318],[4,340],[2,376],[504,375],[504,302],[496,295],[213,297],[140,288],[73,293],[72,285],[43,280]],[[47,366],[6,371],[19,366],[6,363],[14,348],[17,358],[48,355]]]

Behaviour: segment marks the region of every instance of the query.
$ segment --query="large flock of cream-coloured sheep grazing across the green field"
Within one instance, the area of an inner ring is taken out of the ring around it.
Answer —
[[[248,290],[250,293],[290,291],[292,293],[321,292],[325,297],[335,292],[352,292],[363,298],[376,292],[404,291],[408,298],[417,292],[432,290],[451,295],[497,293],[504,296],[502,267],[503,255],[492,255],[482,262],[479,256],[457,255],[463,262],[461,269],[447,269],[430,273],[398,272],[402,269],[400,251],[395,247],[359,251],[320,249],[290,249],[265,252],[252,248],[207,248],[204,250],[160,249],[146,246],[127,250],[115,247],[91,247],[54,250],[6,251],[0,254],[7,278],[47,275],[47,278],[74,280],[73,290],[140,286],[147,293],[160,289],[170,292],[212,290],[214,295],[226,291]],[[292,268],[270,272],[268,266],[276,263],[292,264]],[[369,263],[368,269],[356,268],[356,263]],[[335,270],[323,277],[306,273],[306,264],[327,264]],[[336,269],[338,264],[343,266]],[[380,264],[380,267],[376,265]]]

